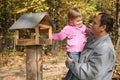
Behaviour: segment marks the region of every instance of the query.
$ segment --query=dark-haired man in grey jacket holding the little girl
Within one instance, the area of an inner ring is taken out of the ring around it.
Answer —
[[[66,60],[66,66],[74,74],[71,80],[112,80],[115,66],[115,51],[108,32],[113,27],[113,18],[100,13],[91,23],[91,35],[81,53],[80,61]]]

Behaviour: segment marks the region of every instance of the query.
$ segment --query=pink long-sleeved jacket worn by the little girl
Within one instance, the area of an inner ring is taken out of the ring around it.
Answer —
[[[66,38],[67,52],[81,52],[87,41],[86,34],[90,34],[90,30],[85,25],[82,27],[67,25],[61,32],[53,34],[52,39],[62,41]]]

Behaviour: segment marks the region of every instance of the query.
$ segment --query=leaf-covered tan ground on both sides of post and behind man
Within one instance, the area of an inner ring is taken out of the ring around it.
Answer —
[[[117,51],[114,80],[120,77],[120,50]],[[26,54],[23,52],[0,55],[0,80],[26,80]],[[65,66],[66,54],[43,55],[43,80],[62,80],[67,68]]]

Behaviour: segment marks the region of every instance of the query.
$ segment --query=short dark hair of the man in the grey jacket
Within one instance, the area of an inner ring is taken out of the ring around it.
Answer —
[[[110,32],[113,29],[114,19],[110,14],[99,13],[101,15],[100,25],[106,25],[106,31]]]

